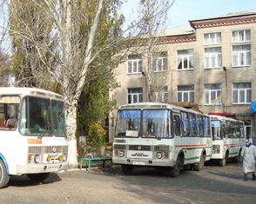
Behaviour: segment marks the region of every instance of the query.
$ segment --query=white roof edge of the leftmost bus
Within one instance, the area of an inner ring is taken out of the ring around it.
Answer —
[[[63,96],[50,90],[28,87],[0,87],[0,95],[37,95],[63,100]]]

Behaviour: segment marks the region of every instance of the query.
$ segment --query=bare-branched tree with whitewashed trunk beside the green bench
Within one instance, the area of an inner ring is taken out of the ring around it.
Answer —
[[[10,2],[12,1],[10,0]],[[138,19],[123,30],[123,33],[120,33],[117,30],[122,25],[123,16],[118,15],[119,1],[44,0],[44,6],[40,0],[32,0],[31,2],[37,4],[40,8],[39,12],[44,13],[44,21],[52,22],[51,36],[49,37],[55,40],[57,47],[50,49],[48,43],[37,40],[35,33],[31,32],[29,28],[26,30],[10,29],[10,35],[14,38],[22,37],[27,40],[30,46],[37,51],[40,62],[47,68],[51,78],[61,86],[66,105],[68,158],[70,167],[77,168],[77,103],[84,85],[99,76],[104,76],[124,60],[126,52],[134,42],[142,35],[145,37],[149,31],[145,28],[147,28],[151,18],[162,12],[155,12],[153,16],[138,16]],[[140,3],[145,4],[145,1]],[[9,6],[10,9],[13,9],[11,3]],[[163,13],[166,11],[165,8]],[[147,12],[152,11],[145,11],[145,14]],[[19,23],[24,28],[28,27],[22,17],[19,18]],[[100,41],[101,35],[107,35],[108,40]],[[121,53],[121,49],[123,49],[122,55],[118,55]],[[104,53],[110,53],[111,60],[105,62],[102,58]],[[51,55],[57,63],[52,64],[48,55]],[[93,66],[95,61],[98,62],[98,66]]]

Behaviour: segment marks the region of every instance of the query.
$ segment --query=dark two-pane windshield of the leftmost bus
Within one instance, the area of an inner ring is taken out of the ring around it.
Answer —
[[[24,97],[20,132],[23,135],[64,136],[64,102],[39,97]]]

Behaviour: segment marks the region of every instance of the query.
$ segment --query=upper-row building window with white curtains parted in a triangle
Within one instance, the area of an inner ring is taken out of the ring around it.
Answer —
[[[193,49],[185,49],[178,51],[178,69],[194,68],[194,51]]]

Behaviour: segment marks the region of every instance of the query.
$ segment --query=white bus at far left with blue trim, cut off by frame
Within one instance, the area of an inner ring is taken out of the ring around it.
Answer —
[[[0,188],[10,175],[44,181],[68,167],[61,95],[31,88],[0,88]]]

